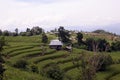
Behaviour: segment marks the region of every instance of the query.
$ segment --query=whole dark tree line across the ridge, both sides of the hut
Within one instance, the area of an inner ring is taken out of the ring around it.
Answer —
[[[65,44],[72,44],[76,48],[86,49],[94,52],[110,52],[110,51],[119,51],[120,50],[120,41],[112,42],[111,44],[106,39],[101,38],[86,38],[83,40],[84,36],[81,32],[76,33],[77,43],[73,43],[71,38],[71,31],[66,30],[63,26],[60,26],[58,29],[52,30],[60,41]],[[97,31],[99,32],[99,31]],[[34,36],[42,35],[42,42],[47,43],[48,37],[45,34],[44,30],[39,26],[35,26],[32,29],[27,28],[25,32],[19,32],[18,28],[15,29],[15,32],[2,31],[0,30],[0,35],[3,36]]]

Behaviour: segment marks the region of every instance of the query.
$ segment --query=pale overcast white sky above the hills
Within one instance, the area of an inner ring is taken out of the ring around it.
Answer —
[[[120,0],[0,0],[2,30],[79,26],[86,31],[119,23]],[[120,27],[114,28],[118,33]]]

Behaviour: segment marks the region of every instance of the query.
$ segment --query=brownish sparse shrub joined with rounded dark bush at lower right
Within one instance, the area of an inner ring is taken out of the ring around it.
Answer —
[[[107,66],[113,63],[113,60],[108,54],[94,54],[92,56],[86,56],[84,53],[79,57],[81,64],[78,60],[74,62],[74,65],[81,65],[80,76],[82,80],[94,80],[97,71],[106,70]]]

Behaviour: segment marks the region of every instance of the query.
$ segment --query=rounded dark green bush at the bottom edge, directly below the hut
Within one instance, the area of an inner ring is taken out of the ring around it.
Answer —
[[[64,73],[56,64],[52,64],[45,72],[46,75],[53,80],[63,80]]]

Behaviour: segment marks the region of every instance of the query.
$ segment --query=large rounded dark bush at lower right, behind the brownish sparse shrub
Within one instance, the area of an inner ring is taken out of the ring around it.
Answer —
[[[94,65],[96,71],[105,71],[107,66],[113,63],[113,59],[108,54],[95,54],[89,60],[91,65]]]

